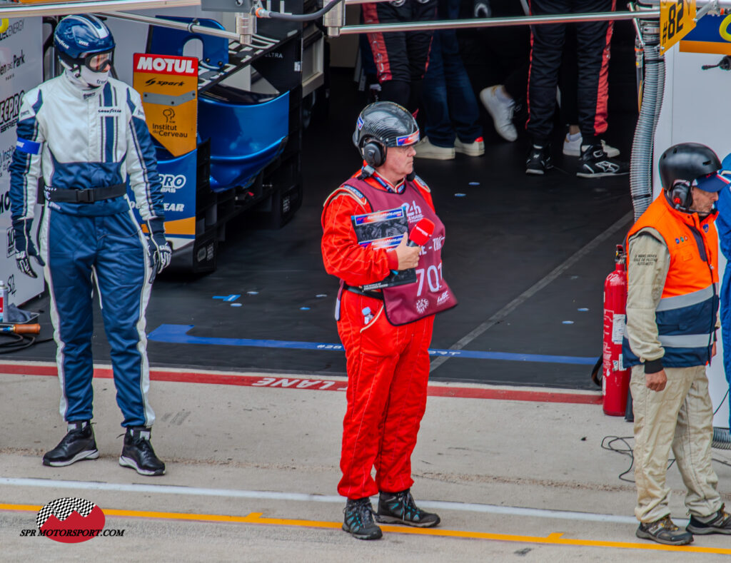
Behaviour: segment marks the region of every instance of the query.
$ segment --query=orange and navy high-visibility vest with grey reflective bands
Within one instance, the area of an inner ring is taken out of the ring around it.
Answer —
[[[629,242],[652,227],[670,251],[670,268],[655,310],[664,367],[702,366],[711,359],[719,310],[719,235],[714,221],[715,212],[701,219],[697,213],[676,210],[660,194],[627,234]],[[631,279],[632,269],[627,277]],[[642,363],[626,337],[622,352],[626,367]]]

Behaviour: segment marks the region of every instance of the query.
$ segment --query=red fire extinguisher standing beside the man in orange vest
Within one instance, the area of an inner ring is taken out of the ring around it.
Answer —
[[[629,369],[622,361],[622,337],[627,305],[627,273],[624,248],[617,245],[614,272],[604,283],[604,342],[602,346],[602,395],[604,412],[624,416],[629,389]]]

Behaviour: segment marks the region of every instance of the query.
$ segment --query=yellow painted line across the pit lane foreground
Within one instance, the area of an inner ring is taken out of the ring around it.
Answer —
[[[34,505],[4,505],[0,510],[24,510],[38,512],[42,507]],[[303,526],[307,528],[340,529],[341,522],[319,520],[295,520],[292,518],[265,518],[260,512],[246,516],[227,516],[223,514],[189,514],[178,512],[152,512],[148,510],[115,510],[102,508],[105,516],[126,516],[129,518],[164,518],[168,520],[187,520],[204,522],[232,522],[236,524],[268,524],[270,526]],[[512,534],[491,534],[487,532],[467,532],[441,528],[410,528],[408,526],[381,526],[384,532],[395,534],[430,535],[437,537],[461,537],[470,540],[493,540],[515,543],[541,543],[545,545],[573,545],[591,548],[645,549],[651,551],[678,551],[693,554],[731,555],[731,549],[704,548],[700,545],[662,545],[659,543],[608,542],[599,540],[580,540],[564,537],[561,532],[553,532],[545,537],[521,536]]]

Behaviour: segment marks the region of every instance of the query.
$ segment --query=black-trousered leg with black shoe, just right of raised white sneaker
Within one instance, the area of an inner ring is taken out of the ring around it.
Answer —
[[[569,0],[532,0],[531,15],[567,13]],[[550,134],[556,110],[556,85],[566,24],[548,23],[531,27],[531,66],[528,77],[529,119],[526,130],[532,146],[526,161],[526,173],[545,174],[553,167]]]

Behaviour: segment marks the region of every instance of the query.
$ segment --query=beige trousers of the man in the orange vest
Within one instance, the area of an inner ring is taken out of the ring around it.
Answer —
[[[665,483],[670,448],[686,486],[685,505],[694,516],[721,508],[719,478],[711,467],[713,405],[705,366],[666,367],[662,391],[645,386],[645,368],[632,367],[629,383],[635,412],[635,483],[640,522],[670,515],[670,489]]]

